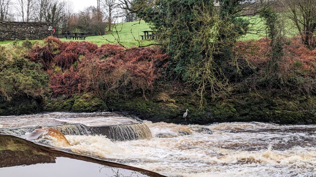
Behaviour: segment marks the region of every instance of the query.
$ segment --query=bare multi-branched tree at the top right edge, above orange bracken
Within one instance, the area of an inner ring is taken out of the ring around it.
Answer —
[[[316,0],[284,0],[284,14],[294,22],[302,42],[311,46],[316,28]]]

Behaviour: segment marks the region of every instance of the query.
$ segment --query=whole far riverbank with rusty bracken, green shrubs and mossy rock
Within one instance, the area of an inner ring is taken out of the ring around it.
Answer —
[[[265,76],[268,43],[239,42],[238,67],[221,63],[230,92],[202,97],[170,70],[173,61],[159,47],[98,47],[53,37],[12,44],[0,50],[0,115],[118,111],[154,123],[316,123],[316,49],[293,38],[284,45],[283,71],[271,79]]]

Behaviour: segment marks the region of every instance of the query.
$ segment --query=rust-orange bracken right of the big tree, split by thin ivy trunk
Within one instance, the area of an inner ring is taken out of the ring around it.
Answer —
[[[250,88],[267,88],[264,67],[270,56],[270,40],[264,38],[258,41],[238,42],[234,49],[238,58],[247,60],[257,68],[257,73],[249,76],[245,83]],[[280,59],[279,88],[292,94],[315,93],[316,49],[308,49],[300,38],[294,37],[291,43],[283,45],[283,56]]]

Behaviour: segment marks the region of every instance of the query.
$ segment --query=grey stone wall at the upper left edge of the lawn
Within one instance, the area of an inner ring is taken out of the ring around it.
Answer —
[[[0,21],[0,41],[15,39],[44,39],[52,34],[50,23]]]

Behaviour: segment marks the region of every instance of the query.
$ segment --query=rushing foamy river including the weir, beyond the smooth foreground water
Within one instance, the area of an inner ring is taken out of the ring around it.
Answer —
[[[108,112],[0,117],[0,128],[24,127],[21,135],[32,132],[31,127],[73,123],[88,127],[119,125],[116,126],[119,130],[111,131],[124,133],[136,129],[137,138],[119,141],[105,135],[78,133],[65,135],[70,147],[44,143],[170,177],[316,176],[316,125],[139,123]],[[134,126],[135,123],[142,126]],[[127,127],[129,124],[133,126]],[[8,129],[5,131],[2,133],[10,133]]]

